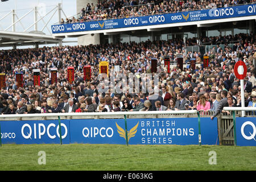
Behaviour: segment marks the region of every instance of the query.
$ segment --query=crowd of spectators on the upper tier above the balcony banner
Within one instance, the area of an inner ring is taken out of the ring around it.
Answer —
[[[80,14],[72,19],[61,19],[61,23],[76,23],[92,20],[105,20],[128,18],[134,16],[177,13],[181,11],[205,10],[212,8],[228,7],[245,3],[254,3],[255,0],[104,0],[97,5],[88,3],[81,9]]]

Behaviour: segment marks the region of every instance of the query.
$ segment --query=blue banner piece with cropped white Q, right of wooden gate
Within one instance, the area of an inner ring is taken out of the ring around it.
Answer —
[[[256,146],[256,118],[236,118],[237,146]]]

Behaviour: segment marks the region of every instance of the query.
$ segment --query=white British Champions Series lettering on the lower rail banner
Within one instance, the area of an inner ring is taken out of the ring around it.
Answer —
[[[141,127],[143,144],[171,144],[171,136],[195,135],[193,128],[174,128],[175,121],[141,121]]]

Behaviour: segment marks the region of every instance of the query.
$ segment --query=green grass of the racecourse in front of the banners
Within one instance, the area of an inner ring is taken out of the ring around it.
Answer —
[[[46,164],[39,165],[39,151]],[[216,165],[209,164],[216,152]],[[114,144],[3,144],[0,170],[255,170],[256,147],[114,145]]]

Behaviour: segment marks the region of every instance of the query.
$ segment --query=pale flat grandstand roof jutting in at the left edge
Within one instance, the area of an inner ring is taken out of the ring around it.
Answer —
[[[62,39],[53,38],[42,32],[0,31],[0,47],[34,46],[39,44],[58,44]]]

